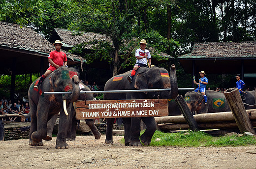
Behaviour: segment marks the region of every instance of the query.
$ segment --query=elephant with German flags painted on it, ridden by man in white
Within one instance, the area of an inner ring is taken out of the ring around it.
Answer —
[[[171,88],[169,92],[138,92],[138,93],[104,93],[104,100],[116,99],[156,99],[167,98],[175,99],[178,95],[178,86],[176,79],[175,65],[170,68],[170,77],[168,71],[159,67],[140,67],[132,83],[127,79],[131,71],[112,77],[105,84],[104,90],[130,90],[130,89],[153,89],[153,88]],[[146,125],[146,131],[140,135],[140,120]],[[105,143],[113,143],[113,124],[114,118],[107,118],[106,140]],[[125,124],[125,145],[142,146],[142,143],[149,145],[152,136],[156,131],[156,121],[154,117],[132,117],[123,118]],[[141,142],[140,142],[140,140]]]

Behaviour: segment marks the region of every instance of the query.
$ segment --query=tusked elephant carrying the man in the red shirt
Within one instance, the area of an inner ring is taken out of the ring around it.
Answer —
[[[39,78],[31,84],[28,91],[31,112],[29,145],[43,145],[42,140],[47,137],[47,122],[60,112],[59,131],[55,147],[57,149],[68,148],[66,143],[68,125],[66,124],[74,114],[68,115],[66,103],[68,102],[68,111],[71,111],[72,103],[79,99],[78,76],[79,74],[74,68],[62,66],[47,76],[38,89],[33,86],[38,83]],[[53,91],[72,91],[72,93],[44,94],[44,92]]]

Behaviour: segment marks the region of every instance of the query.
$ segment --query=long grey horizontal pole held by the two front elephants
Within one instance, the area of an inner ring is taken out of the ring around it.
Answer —
[[[80,91],[80,93],[136,93],[136,92],[158,92],[170,91],[170,88],[139,89],[139,90],[105,90],[105,91]],[[178,88],[179,91],[192,91],[194,88]],[[44,92],[44,94],[71,94],[72,91]]]

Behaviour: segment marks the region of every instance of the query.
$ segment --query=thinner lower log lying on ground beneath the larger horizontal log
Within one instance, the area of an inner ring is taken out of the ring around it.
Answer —
[[[252,120],[252,125],[256,127],[256,120]],[[183,124],[179,124],[179,123],[159,124],[158,126],[162,131],[186,130],[186,129],[190,128],[190,126],[188,124],[185,124],[185,123],[183,123]],[[206,129],[238,129],[238,126],[237,126],[235,121],[197,123],[197,126],[200,130],[206,130]]]

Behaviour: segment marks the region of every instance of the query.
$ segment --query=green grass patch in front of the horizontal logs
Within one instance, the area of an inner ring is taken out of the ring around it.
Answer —
[[[141,132],[143,134],[144,131]],[[160,141],[155,141],[157,138]],[[122,143],[125,140],[122,139]],[[237,135],[214,137],[204,132],[181,131],[178,133],[163,133],[156,131],[149,146],[180,146],[180,147],[199,147],[199,146],[246,146],[256,145],[256,138],[253,136]]]

